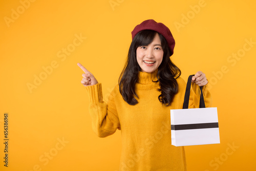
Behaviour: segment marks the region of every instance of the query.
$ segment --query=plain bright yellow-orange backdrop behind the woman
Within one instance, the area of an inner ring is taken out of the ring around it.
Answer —
[[[89,98],[80,83],[83,72],[76,63],[102,83],[108,100],[131,31],[151,18],[173,33],[171,59],[181,77],[203,71],[218,108],[221,143],[185,147],[188,170],[256,170],[255,1],[22,2],[28,0],[0,3],[0,170],[118,170],[120,131],[106,138],[92,131]],[[74,46],[80,35],[80,45]],[[64,58],[67,48],[72,52]],[[30,91],[28,83],[39,75],[44,80]],[[4,113],[9,114],[8,168],[3,162]]]

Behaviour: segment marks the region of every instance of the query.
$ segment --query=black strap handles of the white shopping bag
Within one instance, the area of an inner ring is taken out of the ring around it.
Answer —
[[[191,87],[191,81],[192,81],[192,77],[193,76],[194,75],[189,75],[189,77],[187,79],[187,87],[186,87],[186,92],[185,92],[185,96],[184,96],[183,109],[188,109],[190,87]],[[205,108],[204,95],[203,95],[203,87],[202,86],[200,87],[200,90],[201,90],[201,95],[200,95],[199,108]]]

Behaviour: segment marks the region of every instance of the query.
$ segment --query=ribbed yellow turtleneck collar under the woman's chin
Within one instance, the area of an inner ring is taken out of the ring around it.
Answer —
[[[159,82],[153,82],[153,81],[157,81],[157,72],[158,72],[158,70],[155,70],[152,73],[139,71],[136,88],[137,89],[152,89],[152,88],[157,87]]]

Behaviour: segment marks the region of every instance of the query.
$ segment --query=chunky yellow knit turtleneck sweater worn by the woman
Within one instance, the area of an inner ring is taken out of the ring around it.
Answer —
[[[121,130],[122,152],[119,170],[186,170],[184,147],[171,145],[170,110],[182,109],[186,83],[177,78],[179,91],[170,106],[158,100],[160,92],[157,70],[139,72],[136,93],[138,104],[129,105],[119,92],[118,84],[112,91],[108,104],[102,101],[101,83],[86,87],[90,96],[89,112],[93,130],[106,137]],[[203,87],[205,106],[211,106],[207,84]],[[200,89],[191,84],[189,108],[199,108]]]

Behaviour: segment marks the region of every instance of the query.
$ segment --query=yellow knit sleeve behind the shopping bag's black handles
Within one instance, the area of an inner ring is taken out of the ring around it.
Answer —
[[[200,87],[195,82],[191,82],[190,96],[189,96],[189,103],[188,103],[189,109],[199,108],[200,94],[201,94]],[[203,95],[204,95],[205,107],[210,108],[212,105],[212,98],[208,90],[208,84],[203,86]]]

